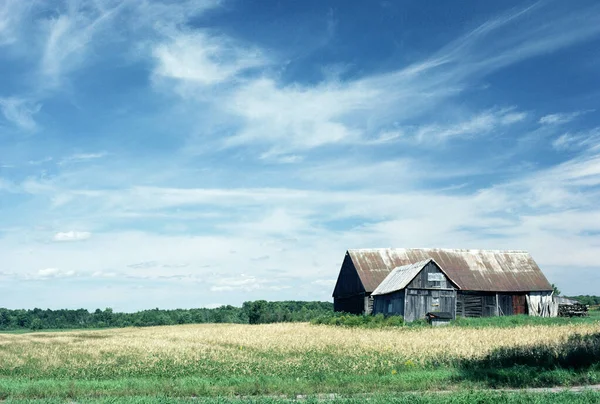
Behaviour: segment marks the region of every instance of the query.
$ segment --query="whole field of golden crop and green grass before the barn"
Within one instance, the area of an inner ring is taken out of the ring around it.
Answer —
[[[468,390],[600,383],[599,360],[597,321],[394,329],[203,324],[0,334],[0,400],[251,396],[274,402],[338,394],[358,402],[361,394],[377,394],[373,402],[414,403],[399,393],[456,390],[430,398],[470,402],[496,394],[516,402],[514,393]],[[553,397],[600,401],[591,392]],[[528,402],[542,398],[532,395]]]

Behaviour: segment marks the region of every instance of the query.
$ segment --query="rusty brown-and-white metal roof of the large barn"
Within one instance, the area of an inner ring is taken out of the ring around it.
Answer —
[[[430,258],[461,290],[552,290],[552,286],[526,251],[376,248],[348,250],[348,255],[367,293],[373,292],[394,268]]]

